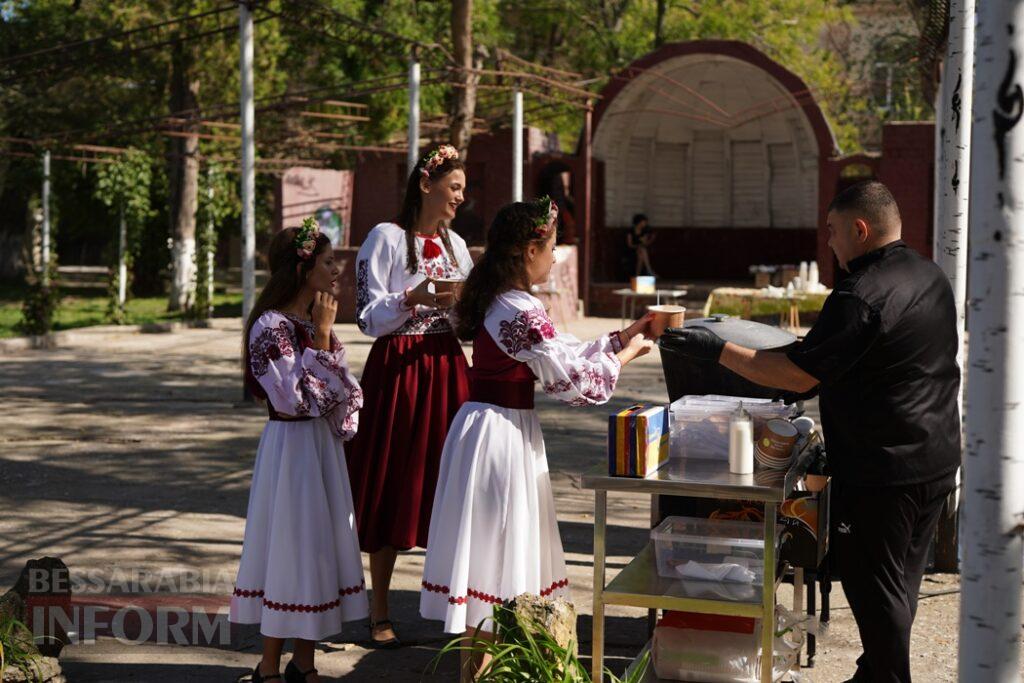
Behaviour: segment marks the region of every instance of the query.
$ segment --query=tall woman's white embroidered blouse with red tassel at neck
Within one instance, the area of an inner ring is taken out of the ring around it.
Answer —
[[[380,223],[370,231],[355,258],[355,323],[370,337],[423,335],[452,331],[449,311],[404,305],[406,291],[426,278],[465,279],[473,267],[466,243],[449,230],[458,262],[440,237],[416,237],[417,271],[409,271],[406,231],[395,223]]]

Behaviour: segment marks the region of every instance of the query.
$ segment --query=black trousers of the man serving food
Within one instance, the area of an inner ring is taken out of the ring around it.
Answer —
[[[928,549],[955,474],[903,486],[833,482],[836,566],[864,652],[857,683],[910,682],[910,627]]]

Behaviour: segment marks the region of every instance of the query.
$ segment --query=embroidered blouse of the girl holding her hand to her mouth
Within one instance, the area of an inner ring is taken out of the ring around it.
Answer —
[[[348,369],[345,349],[331,335],[331,350],[312,348],[309,321],[268,310],[249,333],[249,370],[274,412],[326,418],[343,440],[355,435],[362,390]]]

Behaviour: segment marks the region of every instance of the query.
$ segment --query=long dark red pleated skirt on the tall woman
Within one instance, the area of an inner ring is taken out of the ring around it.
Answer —
[[[453,334],[381,337],[362,371],[359,429],[346,444],[359,547],[427,547],[444,437],[469,397]]]

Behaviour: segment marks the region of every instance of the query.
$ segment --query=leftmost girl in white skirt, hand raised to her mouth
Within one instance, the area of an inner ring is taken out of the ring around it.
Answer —
[[[317,640],[365,618],[368,602],[342,441],[358,426],[362,391],[332,333],[340,270],[314,227],[270,244],[270,280],[246,325],[250,390],[267,402],[253,472],[230,621],[259,624],[263,657],[253,681],[319,680]]]

